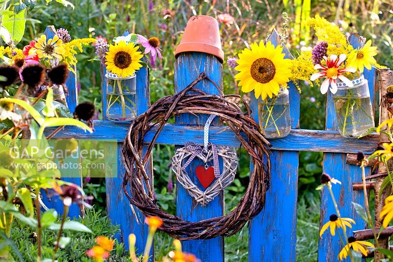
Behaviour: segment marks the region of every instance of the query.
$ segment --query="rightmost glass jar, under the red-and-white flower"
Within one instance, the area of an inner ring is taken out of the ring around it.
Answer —
[[[337,79],[337,92],[333,95],[337,128],[346,138],[358,138],[374,127],[370,92],[365,77],[351,80],[353,87]]]

